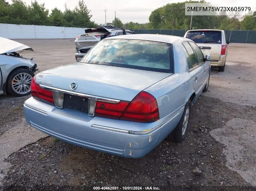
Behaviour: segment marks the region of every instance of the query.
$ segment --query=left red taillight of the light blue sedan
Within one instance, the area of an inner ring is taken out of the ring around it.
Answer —
[[[52,91],[48,91],[48,90],[44,90],[44,89],[40,88],[40,85],[35,83],[35,78],[36,78],[36,76],[34,76],[34,78],[31,81],[32,96],[37,99],[39,98],[42,101],[46,100],[48,102],[54,103]]]

